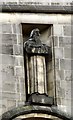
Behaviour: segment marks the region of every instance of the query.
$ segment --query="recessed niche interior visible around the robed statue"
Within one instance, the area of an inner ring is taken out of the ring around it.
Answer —
[[[47,46],[50,46],[51,48],[53,47],[53,40],[50,39],[52,38],[52,25],[49,24],[22,24],[22,33],[23,33],[23,43],[29,39],[30,32],[38,28],[40,31],[40,40],[42,43],[46,44]],[[24,55],[25,56],[25,55]],[[53,56],[53,51],[52,51],[52,56]],[[24,60],[25,63],[25,60]],[[26,66],[26,63],[24,64],[24,68]],[[26,71],[26,68],[24,69]],[[25,72],[26,74],[26,72]],[[54,89],[54,70],[53,70],[53,59],[49,58],[49,56],[46,57],[46,82],[47,82],[47,94],[51,97],[55,97],[55,89]],[[25,84],[26,84],[26,97],[28,91],[28,83],[26,80],[26,75],[25,75]],[[30,84],[30,83],[29,83]],[[42,85],[41,85],[41,89]]]

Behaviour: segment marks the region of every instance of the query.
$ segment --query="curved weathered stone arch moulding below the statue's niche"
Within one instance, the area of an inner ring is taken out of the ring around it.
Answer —
[[[73,117],[70,115],[60,111],[57,107],[46,107],[46,106],[39,106],[39,105],[25,105],[21,107],[16,107],[2,115],[1,120],[13,120],[14,118],[20,115],[26,115],[31,113],[41,113],[47,114],[51,116],[58,117],[62,120],[73,120]],[[48,118],[49,120],[49,118]]]

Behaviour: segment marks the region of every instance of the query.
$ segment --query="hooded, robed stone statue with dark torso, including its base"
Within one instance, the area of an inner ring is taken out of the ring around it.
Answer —
[[[46,59],[52,55],[51,48],[41,42],[38,28],[31,31],[29,39],[24,43],[24,50],[26,101],[52,105],[53,98],[46,96],[48,94]]]

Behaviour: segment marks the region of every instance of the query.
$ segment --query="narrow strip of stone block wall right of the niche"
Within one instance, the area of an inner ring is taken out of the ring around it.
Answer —
[[[72,32],[72,24],[54,25],[57,104],[69,113],[73,103]]]

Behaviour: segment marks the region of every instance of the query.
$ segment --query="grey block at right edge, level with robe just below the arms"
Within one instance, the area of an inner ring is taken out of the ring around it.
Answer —
[[[72,70],[73,60],[60,59],[60,69],[61,70]]]

